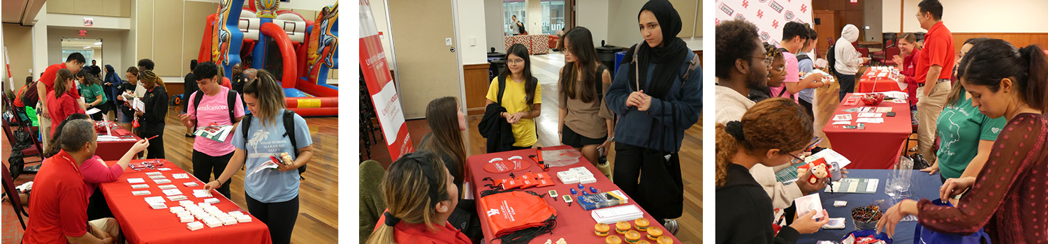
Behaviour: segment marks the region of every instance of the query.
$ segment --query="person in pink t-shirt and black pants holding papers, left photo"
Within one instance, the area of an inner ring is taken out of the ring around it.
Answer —
[[[200,90],[193,92],[190,97],[185,97],[188,102],[185,114],[179,115],[179,118],[187,128],[200,131],[210,126],[233,126],[244,116],[244,106],[240,101],[240,95],[231,91],[230,88],[219,85],[218,73],[218,65],[212,62],[198,64],[193,69],[193,76],[197,79],[197,86]],[[231,95],[235,96],[232,105],[230,105],[228,99]],[[195,103],[197,96],[201,96],[199,105]],[[222,175],[222,171],[225,171],[225,165],[228,164],[230,159],[233,158],[233,152],[236,150],[230,143],[231,138],[233,138],[232,132],[222,141],[197,136],[193,140],[193,176],[202,181],[210,181],[211,175],[214,174],[215,179],[218,179],[218,176]],[[218,188],[218,193],[233,198],[230,195],[230,182],[222,184]]]

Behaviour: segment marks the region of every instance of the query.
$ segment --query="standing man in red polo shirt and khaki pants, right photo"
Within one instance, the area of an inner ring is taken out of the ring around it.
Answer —
[[[935,126],[949,96],[949,76],[954,70],[954,36],[942,24],[942,3],[923,0],[917,4],[917,21],[927,29],[924,49],[917,60],[917,152],[935,163]]]

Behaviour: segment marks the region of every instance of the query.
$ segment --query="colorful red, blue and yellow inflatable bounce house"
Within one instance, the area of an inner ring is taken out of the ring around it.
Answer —
[[[197,61],[215,62],[233,79],[233,66],[265,69],[284,88],[287,108],[302,116],[336,116],[339,87],[328,70],[339,68],[339,3],[314,20],[277,10],[279,0],[221,0],[208,16]]]

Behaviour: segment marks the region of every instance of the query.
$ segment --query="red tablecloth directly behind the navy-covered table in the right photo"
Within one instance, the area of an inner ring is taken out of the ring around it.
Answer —
[[[848,96],[854,95],[848,93]],[[845,98],[845,101],[847,102],[848,98]],[[840,106],[837,106],[837,109],[830,116],[850,113],[852,116],[850,125],[857,126],[855,119],[858,118],[858,112],[844,111],[857,107],[874,106],[867,106],[863,102],[854,106],[845,106],[843,103]],[[866,128],[863,130],[845,129],[842,125],[833,125],[833,119],[830,119],[830,121],[826,123],[826,127],[823,127],[823,133],[830,140],[833,151],[840,153],[840,155],[852,161],[848,165],[848,169],[892,169],[892,165],[899,160],[903,142],[905,142],[907,137],[913,132],[913,126],[910,121],[909,104],[896,104],[886,101],[876,107],[891,107],[892,112],[895,112],[895,116],[889,117],[885,114],[881,116],[885,118],[883,124],[867,123]]]

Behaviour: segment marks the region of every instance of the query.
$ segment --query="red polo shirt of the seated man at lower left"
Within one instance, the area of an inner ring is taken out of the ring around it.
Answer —
[[[24,243],[69,243],[66,236],[87,234],[84,177],[65,150],[44,160],[32,183]]]

